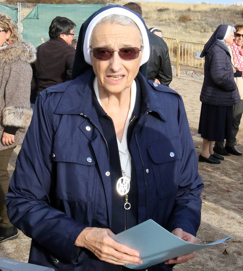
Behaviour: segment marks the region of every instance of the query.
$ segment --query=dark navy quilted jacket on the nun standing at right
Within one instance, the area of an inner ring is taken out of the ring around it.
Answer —
[[[240,101],[229,51],[218,40],[205,55],[200,101],[214,105],[233,105]]]

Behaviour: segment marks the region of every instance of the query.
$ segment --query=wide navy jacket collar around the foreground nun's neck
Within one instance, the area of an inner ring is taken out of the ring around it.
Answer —
[[[94,76],[93,70],[90,69],[86,73],[72,80],[63,93],[55,113],[84,114],[90,116],[95,110],[92,103]],[[148,84],[147,80],[141,75],[140,72],[136,78],[136,81],[138,81],[141,86],[140,114],[145,115],[151,114],[151,112],[156,112],[161,119],[166,120],[166,113],[163,110],[163,103],[165,101],[160,98],[161,96],[158,95],[157,91],[176,92],[163,85],[155,87],[153,86],[152,81],[150,81]]]

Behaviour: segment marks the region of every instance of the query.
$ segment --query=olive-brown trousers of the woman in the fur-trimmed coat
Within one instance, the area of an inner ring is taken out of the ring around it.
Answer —
[[[0,227],[4,228],[13,226],[8,219],[5,197],[8,193],[8,186],[10,182],[8,162],[14,151],[14,148],[0,151]]]

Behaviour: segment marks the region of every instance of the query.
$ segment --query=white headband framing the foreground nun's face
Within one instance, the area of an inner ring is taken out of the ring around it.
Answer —
[[[142,50],[142,59],[141,59],[141,64],[144,64],[148,61],[149,55],[150,55],[150,47],[149,47],[149,41],[148,41],[148,35],[147,35],[147,30],[143,24],[143,22],[140,20],[140,18],[134,14],[132,11],[129,11],[125,8],[109,8],[99,14],[96,15],[96,17],[93,18],[93,20],[90,22],[90,24],[87,27],[85,37],[84,37],[84,60],[86,63],[91,64],[91,58],[90,58],[90,37],[92,34],[92,31],[96,24],[104,17],[107,17],[112,14],[117,14],[117,15],[123,15],[126,17],[129,17],[131,20],[133,20],[136,25],[138,26],[141,36],[142,36],[142,41],[144,48]]]

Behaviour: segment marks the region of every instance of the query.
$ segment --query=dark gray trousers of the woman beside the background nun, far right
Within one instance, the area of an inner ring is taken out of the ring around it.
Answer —
[[[233,105],[233,122],[231,138],[229,140],[226,140],[225,146],[233,147],[235,145],[236,135],[239,131],[242,113],[243,113],[243,100],[241,100],[238,104]],[[223,142],[216,141],[214,146],[223,147]]]

